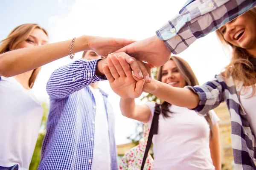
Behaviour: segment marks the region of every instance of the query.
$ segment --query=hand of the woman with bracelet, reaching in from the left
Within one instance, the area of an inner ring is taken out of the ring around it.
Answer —
[[[105,57],[113,51],[135,42],[134,40],[96,36],[87,36],[87,40],[87,47],[90,50],[93,50],[98,55]]]

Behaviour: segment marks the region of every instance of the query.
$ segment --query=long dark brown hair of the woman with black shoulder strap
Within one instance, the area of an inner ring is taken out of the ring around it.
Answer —
[[[177,56],[171,56],[170,60],[172,60],[175,63],[177,70],[180,72],[180,74],[186,80],[186,85],[190,85],[190,86],[199,85],[198,79],[195,77],[195,74],[194,74],[192,68],[190,67],[189,63],[187,63],[184,59],[177,57]],[[160,82],[162,81],[162,71],[163,71],[163,66],[161,66],[157,72],[157,80]],[[169,114],[169,113],[171,113],[169,111],[170,106],[171,106],[171,104],[166,101],[164,101],[161,104],[163,117],[165,117],[165,118],[170,117],[170,114]],[[210,131],[211,131],[211,136],[212,136],[211,116],[210,116],[210,114],[207,114],[207,116],[204,116],[204,117],[210,126]]]

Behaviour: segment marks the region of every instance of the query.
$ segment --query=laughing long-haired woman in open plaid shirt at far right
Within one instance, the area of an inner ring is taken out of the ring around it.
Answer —
[[[219,28],[217,35],[233,54],[230,64],[214,79],[201,86],[185,88],[154,79],[143,86],[143,80],[139,80],[136,91],[141,92],[143,88],[172,105],[192,109],[203,116],[225,101],[231,117],[234,168],[255,170],[256,8]],[[108,71],[106,66],[104,69]],[[125,91],[120,95],[125,96]]]

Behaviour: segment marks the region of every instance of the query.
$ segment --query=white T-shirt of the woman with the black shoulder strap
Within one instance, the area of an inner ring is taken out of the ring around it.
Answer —
[[[154,102],[146,103],[151,110],[148,121],[151,126]],[[212,164],[206,119],[195,111],[171,105],[170,118],[159,116],[158,134],[153,136],[153,170],[215,170]],[[211,112],[212,124],[220,119]]]

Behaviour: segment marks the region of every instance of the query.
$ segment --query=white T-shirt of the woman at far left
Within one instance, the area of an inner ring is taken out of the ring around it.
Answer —
[[[1,77],[0,166],[29,169],[43,113],[31,90],[13,77]]]

